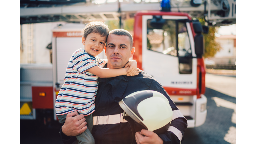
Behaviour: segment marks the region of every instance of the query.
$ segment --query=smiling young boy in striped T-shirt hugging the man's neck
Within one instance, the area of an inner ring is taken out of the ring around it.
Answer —
[[[64,84],[55,103],[56,115],[61,123],[65,122],[70,112],[77,111],[85,116],[87,129],[76,138],[79,144],[94,144],[91,134],[93,127],[92,113],[95,111],[94,99],[98,89],[98,77],[116,77],[119,75],[133,76],[141,72],[137,69],[137,62],[132,60],[125,68],[102,68],[106,60],[96,55],[100,54],[105,46],[108,27],[99,21],[90,22],[82,30],[82,44],[84,49],[76,50],[66,69]]]

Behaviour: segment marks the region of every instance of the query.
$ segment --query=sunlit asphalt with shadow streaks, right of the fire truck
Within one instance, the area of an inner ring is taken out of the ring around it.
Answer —
[[[182,144],[236,144],[236,78],[206,74],[205,81],[206,121],[186,129]]]

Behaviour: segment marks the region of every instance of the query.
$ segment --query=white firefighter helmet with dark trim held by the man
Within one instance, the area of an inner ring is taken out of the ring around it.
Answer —
[[[166,132],[170,126],[172,108],[168,99],[160,92],[137,91],[123,98],[119,105],[124,110],[124,116],[129,115],[156,134]]]

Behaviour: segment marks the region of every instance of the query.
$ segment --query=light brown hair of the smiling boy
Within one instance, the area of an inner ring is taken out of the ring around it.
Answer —
[[[90,33],[98,33],[102,37],[108,36],[109,29],[108,26],[105,25],[101,21],[93,21],[88,23],[85,28],[82,30],[82,35],[86,39],[87,35]]]

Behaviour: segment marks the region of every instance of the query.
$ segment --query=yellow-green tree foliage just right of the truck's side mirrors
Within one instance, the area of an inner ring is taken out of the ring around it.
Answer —
[[[203,18],[198,18],[199,22],[204,25],[205,21]],[[221,46],[218,42],[215,41],[215,33],[218,32],[219,27],[209,26],[208,34],[203,34],[204,36],[204,43],[205,43],[205,51],[204,57],[214,57],[214,55],[220,51]]]

